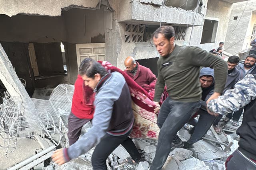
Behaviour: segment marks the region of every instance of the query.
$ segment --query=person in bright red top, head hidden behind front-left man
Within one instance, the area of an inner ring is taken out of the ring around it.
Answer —
[[[93,118],[93,102],[94,93],[92,89],[84,85],[84,80],[78,74],[75,82],[71,113],[68,117],[68,140],[70,146],[78,140],[83,125]]]

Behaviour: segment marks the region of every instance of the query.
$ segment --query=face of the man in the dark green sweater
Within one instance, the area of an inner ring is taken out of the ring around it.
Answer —
[[[174,49],[174,37],[166,39],[163,34],[159,33],[158,38],[153,37],[154,45],[160,56],[165,57]]]

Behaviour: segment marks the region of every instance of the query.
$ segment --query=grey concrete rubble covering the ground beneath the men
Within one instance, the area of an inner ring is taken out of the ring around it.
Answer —
[[[83,132],[86,133],[88,128],[90,128],[90,126],[85,125]],[[228,157],[228,154],[234,152],[238,147],[238,141],[236,141],[238,136],[234,133],[230,135],[222,135],[227,139],[226,143],[234,143],[234,145],[230,147],[231,150],[229,150],[229,152],[224,152],[222,149],[223,146],[220,147],[219,144],[212,143],[208,140],[200,140],[194,144],[194,148],[192,149],[175,148],[172,150],[166,160],[163,170],[224,170],[224,162]],[[185,128],[182,128],[179,131],[179,136],[183,141],[187,141],[190,134]],[[65,137],[65,135],[63,137]],[[205,137],[217,141],[212,131],[208,131]],[[48,139],[42,138],[41,142],[42,141],[46,143],[44,146],[53,145]],[[130,155],[122,146],[119,146],[112,154],[110,154],[110,156],[108,156],[108,170],[148,170],[156,153],[157,141],[150,139],[133,139],[133,141],[142,154],[144,161],[139,163],[128,163],[126,160]],[[7,157],[4,152],[0,152],[0,169],[7,169],[26,158],[30,158],[32,155],[36,154],[36,152],[40,152],[40,149],[42,150],[42,144],[39,145],[38,138],[31,137],[30,139],[20,139],[18,140],[16,150],[7,154]],[[62,166],[57,166],[48,159],[48,162],[44,161],[33,169],[92,170],[91,157],[93,151],[94,149],[91,149],[86,154],[63,164]]]

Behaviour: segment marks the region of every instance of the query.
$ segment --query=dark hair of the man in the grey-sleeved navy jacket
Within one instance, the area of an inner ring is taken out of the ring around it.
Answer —
[[[86,75],[89,78],[94,78],[95,74],[100,74],[101,77],[107,74],[107,70],[97,61],[93,59],[84,59],[79,66],[80,76]]]

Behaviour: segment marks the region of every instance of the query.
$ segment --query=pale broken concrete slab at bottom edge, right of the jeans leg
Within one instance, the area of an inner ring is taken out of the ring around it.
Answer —
[[[186,159],[181,161],[181,163],[185,166],[186,170],[210,170],[209,166],[206,166],[203,161],[196,158]]]

